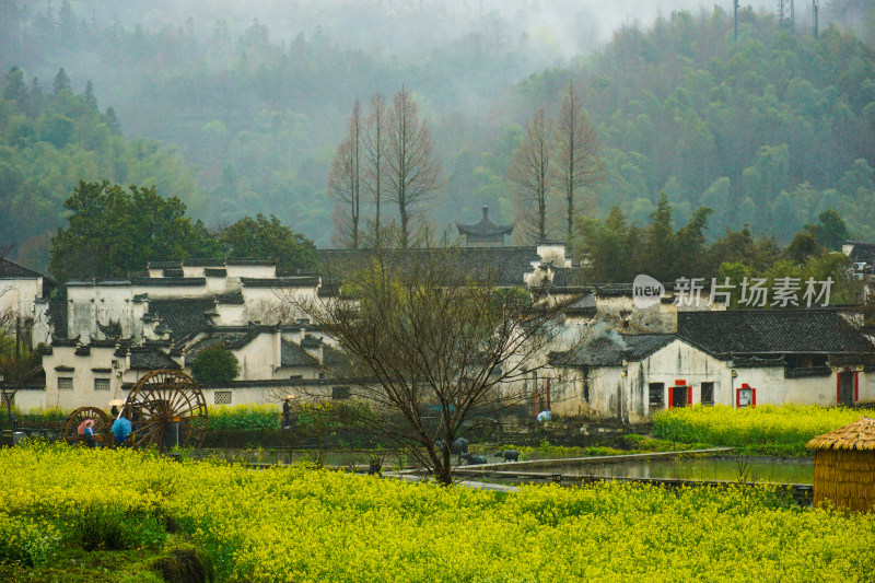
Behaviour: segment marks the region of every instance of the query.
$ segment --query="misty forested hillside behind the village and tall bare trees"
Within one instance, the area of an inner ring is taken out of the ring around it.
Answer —
[[[352,102],[401,85],[443,160],[439,229],[474,222],[481,205],[513,218],[506,172],[522,128],[538,106],[556,114],[574,81],[602,143],[600,213],[620,205],[644,223],[665,190],[678,223],[713,208],[712,236],[748,223],[786,241],[836,208],[875,238],[875,53],[838,26],[814,39],[746,9],[735,42],[716,8],[627,24],[596,46],[604,26],[573,2],[534,25],[526,2],[298,2],[299,27],[288,4],[276,22],[244,23],[231,19],[246,3],[224,2],[228,20],[136,4],[0,0],[0,243],[34,263],[79,177],[154,184],[213,224],[275,213],[328,245],[326,182]],[[355,22],[385,42],[345,36]]]

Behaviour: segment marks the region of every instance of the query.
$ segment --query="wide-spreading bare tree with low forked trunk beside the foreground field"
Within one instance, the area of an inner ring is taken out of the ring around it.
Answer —
[[[453,459],[438,440],[453,443],[525,403],[524,378],[546,364],[561,328],[558,308],[497,289],[488,266],[463,272],[454,253],[375,252],[348,266],[352,296],[301,305],[352,360],[327,372],[370,405],[362,421],[442,483],[453,480]]]

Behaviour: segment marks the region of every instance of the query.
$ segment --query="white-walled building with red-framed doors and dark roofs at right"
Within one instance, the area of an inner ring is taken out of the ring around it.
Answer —
[[[675,334],[603,331],[552,354],[540,392],[559,415],[631,422],[696,404],[852,405],[875,400],[873,352],[838,311],[680,312]]]

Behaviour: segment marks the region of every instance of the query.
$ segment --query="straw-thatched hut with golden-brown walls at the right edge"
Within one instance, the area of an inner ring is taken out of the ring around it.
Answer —
[[[806,445],[815,451],[815,505],[829,500],[862,512],[875,506],[875,419],[861,417]]]

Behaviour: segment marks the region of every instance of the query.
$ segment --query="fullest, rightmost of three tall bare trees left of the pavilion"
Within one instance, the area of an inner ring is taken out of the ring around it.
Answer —
[[[398,205],[400,246],[406,248],[410,244],[411,221],[441,187],[441,163],[434,159],[429,128],[404,88],[395,94],[388,130],[387,197]]]

